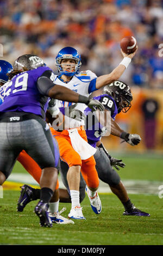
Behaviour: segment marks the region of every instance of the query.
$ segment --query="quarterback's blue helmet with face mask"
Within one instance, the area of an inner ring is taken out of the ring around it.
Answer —
[[[62,59],[76,60],[75,70],[73,72],[62,71],[62,68],[61,68]],[[56,57],[56,66],[58,68],[58,72],[60,75],[73,76],[74,74],[78,73],[81,65],[82,63],[81,63],[81,57],[79,56],[79,52],[73,47],[62,48]]]

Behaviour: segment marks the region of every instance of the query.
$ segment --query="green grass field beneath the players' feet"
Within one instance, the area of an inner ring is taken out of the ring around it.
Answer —
[[[163,185],[163,159],[161,157],[123,157],[127,166],[121,170],[123,179],[160,181]],[[14,172],[22,172],[16,163]],[[159,192],[159,191],[158,191]],[[33,213],[36,202],[29,203],[23,212],[16,211],[20,192],[4,190],[0,199],[1,245],[163,245],[163,198],[152,194],[129,194],[131,201],[151,217],[123,216],[123,206],[114,194],[100,194],[102,213],[95,215],[89,199],[82,206],[86,220],[74,220],[74,225],[53,224],[41,228]],[[62,216],[67,217],[70,204]]]

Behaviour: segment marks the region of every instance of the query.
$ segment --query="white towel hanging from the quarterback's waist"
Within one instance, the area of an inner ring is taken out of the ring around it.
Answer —
[[[67,130],[71,139],[73,149],[80,155],[82,160],[88,159],[96,153],[96,148],[93,148],[89,143],[79,135],[77,129]]]

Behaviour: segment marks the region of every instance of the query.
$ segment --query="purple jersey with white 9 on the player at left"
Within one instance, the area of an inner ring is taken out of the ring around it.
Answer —
[[[39,93],[37,79],[46,70],[51,69],[48,66],[41,66],[17,74],[12,78],[5,89],[4,101],[0,106],[0,111],[28,112],[45,118],[49,98]]]

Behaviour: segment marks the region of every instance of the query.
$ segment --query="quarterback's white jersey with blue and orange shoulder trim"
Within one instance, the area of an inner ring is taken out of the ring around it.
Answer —
[[[81,71],[78,74],[74,75],[70,82],[64,83],[62,82],[57,75],[54,75],[54,83],[58,84],[59,86],[64,86],[69,88],[70,90],[73,90],[73,92],[79,93],[83,96],[89,96],[89,85],[90,82],[97,78],[96,74],[93,73],[91,70]],[[68,101],[58,101],[58,107],[69,107],[75,103],[68,102]],[[84,103],[77,103],[76,109],[79,109],[84,113],[84,109],[87,106]],[[69,119],[69,120],[68,120]],[[65,122],[69,121],[69,124],[67,124],[68,127],[79,127],[81,125],[84,125],[84,121],[76,121],[72,118],[65,117]]]

